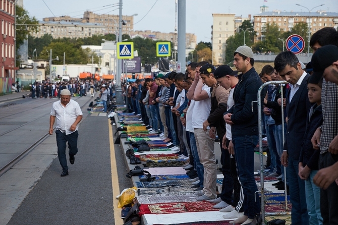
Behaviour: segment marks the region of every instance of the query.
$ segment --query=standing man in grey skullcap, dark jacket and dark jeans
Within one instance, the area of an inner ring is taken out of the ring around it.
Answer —
[[[235,104],[224,113],[223,118],[231,125],[238,176],[245,202],[244,215],[230,223],[250,224],[255,220],[255,215],[260,213],[260,203],[255,201],[255,195],[258,199],[258,193],[253,173],[254,149],[258,143],[258,110],[256,103],[252,110],[251,103],[257,101],[257,92],[262,81],[253,64],[251,48],[245,45],[238,47],[234,53],[234,66],[242,74],[238,76],[239,83],[234,90]]]

